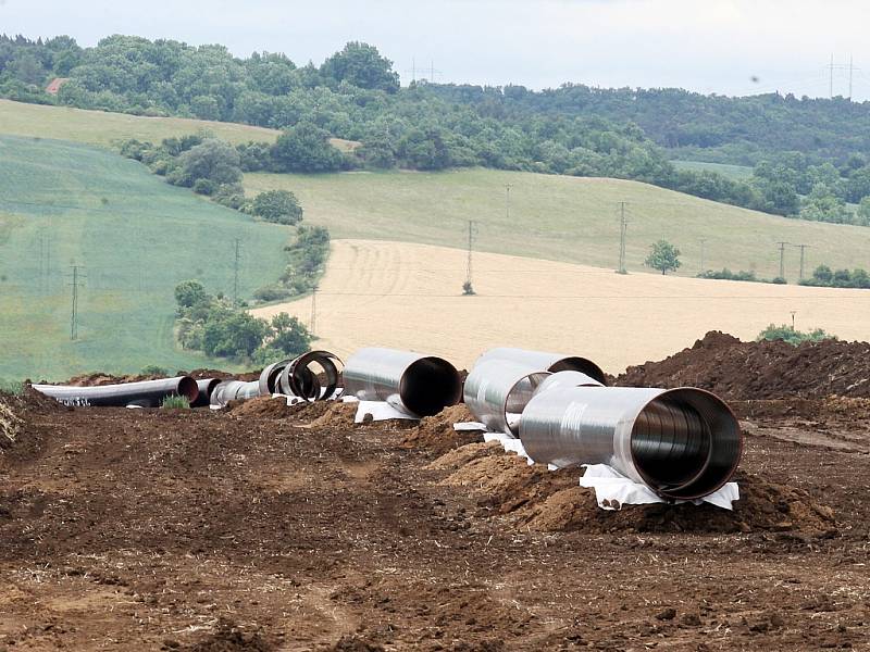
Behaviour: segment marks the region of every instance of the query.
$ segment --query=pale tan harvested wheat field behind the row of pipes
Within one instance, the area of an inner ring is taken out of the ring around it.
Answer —
[[[866,339],[870,292],[629,274],[475,253],[474,297],[462,296],[467,252],[335,240],[316,296],[318,346],[347,356],[365,346],[414,349],[471,365],[493,346],[576,352],[606,371],[658,360],[719,329],[751,340],[768,324]],[[311,298],[253,310],[308,323]]]

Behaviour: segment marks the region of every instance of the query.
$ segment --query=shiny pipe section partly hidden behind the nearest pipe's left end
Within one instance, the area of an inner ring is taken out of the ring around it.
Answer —
[[[477,361],[462,394],[469,411],[488,430],[517,437],[523,410],[550,376],[527,364],[493,358]]]

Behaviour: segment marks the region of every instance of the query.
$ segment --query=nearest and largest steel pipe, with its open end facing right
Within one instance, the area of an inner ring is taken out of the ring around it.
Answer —
[[[687,387],[543,391],[525,406],[520,439],[535,462],[608,464],[669,499],[712,493],[731,479],[743,450],[729,406]]]

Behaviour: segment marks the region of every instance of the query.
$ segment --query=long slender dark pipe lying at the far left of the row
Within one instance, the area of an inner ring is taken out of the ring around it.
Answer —
[[[101,385],[98,387],[34,385],[33,388],[65,405],[88,406],[124,408],[126,405],[138,405],[140,408],[158,408],[166,397],[187,397],[187,400],[194,403],[199,396],[197,381],[189,376]]]

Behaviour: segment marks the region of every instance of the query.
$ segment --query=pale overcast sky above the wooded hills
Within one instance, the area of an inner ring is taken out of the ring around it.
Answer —
[[[680,86],[870,99],[870,0],[0,0],[0,32],[122,33],[220,42],[237,55],[320,63],[348,40],[377,46],[402,84]],[[754,78],[757,78],[755,80]]]

